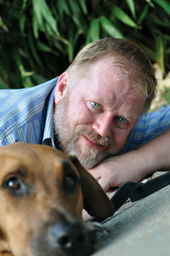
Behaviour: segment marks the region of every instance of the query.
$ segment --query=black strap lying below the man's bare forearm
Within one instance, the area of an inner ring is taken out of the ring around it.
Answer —
[[[113,195],[111,201],[114,203],[115,210],[118,210],[127,199],[135,202],[139,199],[147,197],[152,193],[162,189],[170,184],[170,172],[158,176],[146,183],[126,182]]]

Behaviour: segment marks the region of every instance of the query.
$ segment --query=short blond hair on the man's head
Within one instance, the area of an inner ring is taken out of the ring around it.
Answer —
[[[128,39],[104,38],[82,48],[67,69],[70,86],[82,76],[88,76],[95,61],[107,57],[113,57],[114,65],[122,67],[135,86],[146,93],[143,107],[146,112],[156,94],[154,69],[143,50]]]

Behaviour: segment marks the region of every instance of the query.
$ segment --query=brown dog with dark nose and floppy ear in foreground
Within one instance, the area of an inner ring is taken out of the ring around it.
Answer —
[[[0,255],[89,255],[82,209],[99,219],[114,206],[74,157],[50,146],[0,148]]]

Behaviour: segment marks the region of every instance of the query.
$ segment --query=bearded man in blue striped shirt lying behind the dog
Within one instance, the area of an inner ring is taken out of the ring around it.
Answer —
[[[133,42],[92,42],[61,76],[1,90],[0,145],[48,144],[75,155],[105,191],[137,182],[170,167],[170,107],[146,114],[156,84]]]

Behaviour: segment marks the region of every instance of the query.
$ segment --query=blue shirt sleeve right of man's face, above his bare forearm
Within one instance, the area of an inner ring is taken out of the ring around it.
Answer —
[[[170,106],[163,106],[156,112],[143,114],[131,132],[124,153],[137,149],[158,137],[170,125]]]

